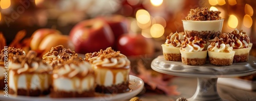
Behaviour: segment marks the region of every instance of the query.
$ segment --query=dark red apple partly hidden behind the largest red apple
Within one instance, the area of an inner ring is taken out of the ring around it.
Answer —
[[[124,33],[128,33],[128,20],[121,15],[100,17],[108,23],[114,33],[115,40]]]

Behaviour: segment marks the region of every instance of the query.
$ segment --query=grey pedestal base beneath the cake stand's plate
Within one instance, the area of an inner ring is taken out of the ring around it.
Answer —
[[[218,78],[197,78],[197,90],[188,100],[222,100],[217,91],[217,80]]]

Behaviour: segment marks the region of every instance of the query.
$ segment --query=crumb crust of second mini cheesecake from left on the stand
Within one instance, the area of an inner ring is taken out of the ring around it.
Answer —
[[[203,65],[206,62],[206,58],[184,58],[182,57],[182,63],[187,65]]]

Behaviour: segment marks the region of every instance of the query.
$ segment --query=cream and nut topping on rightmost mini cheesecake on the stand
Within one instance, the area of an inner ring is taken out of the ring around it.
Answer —
[[[231,39],[234,41],[233,48],[248,48],[250,39],[248,35],[246,35],[246,32],[243,32],[243,30],[239,31],[236,28],[229,34],[231,35]]]

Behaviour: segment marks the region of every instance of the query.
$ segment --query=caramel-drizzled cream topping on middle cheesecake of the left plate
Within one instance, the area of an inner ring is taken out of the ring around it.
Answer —
[[[88,75],[93,72],[92,65],[87,61],[72,62],[73,60],[67,61],[67,63],[59,65],[58,69],[53,71],[54,78],[57,77],[68,77],[72,78],[76,75],[80,75],[82,77]]]

